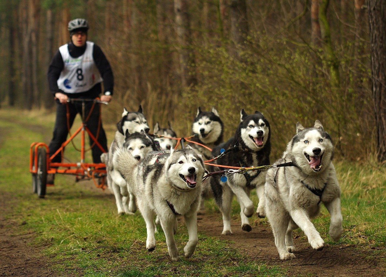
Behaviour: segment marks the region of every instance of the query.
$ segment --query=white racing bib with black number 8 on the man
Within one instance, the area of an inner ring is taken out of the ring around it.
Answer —
[[[64,68],[58,79],[58,87],[66,93],[86,92],[103,81],[93,59],[93,42],[86,42],[83,55],[73,58],[68,52],[68,44],[59,47]]]

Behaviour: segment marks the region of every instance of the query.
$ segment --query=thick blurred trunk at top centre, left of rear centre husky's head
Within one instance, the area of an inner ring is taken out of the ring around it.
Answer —
[[[179,58],[181,65],[181,79],[185,87],[197,83],[194,67],[195,56],[191,49],[191,30],[187,0],[174,0],[176,13],[176,33],[179,43]]]

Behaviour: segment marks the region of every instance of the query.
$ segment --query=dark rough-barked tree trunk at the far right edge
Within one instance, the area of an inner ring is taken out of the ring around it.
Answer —
[[[376,149],[386,161],[386,2],[367,0],[369,8],[372,99],[375,111]]]

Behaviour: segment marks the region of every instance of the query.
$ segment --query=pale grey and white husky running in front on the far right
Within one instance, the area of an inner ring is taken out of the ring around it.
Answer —
[[[280,259],[295,258],[292,231],[300,227],[313,249],[322,250],[324,240],[310,221],[317,216],[322,202],[331,214],[330,236],[342,235],[340,188],[332,157],[334,146],[322,123],[313,128],[296,124],[296,135],[283,157],[275,164],[292,162],[293,167],[279,167],[267,172],[266,211]]]

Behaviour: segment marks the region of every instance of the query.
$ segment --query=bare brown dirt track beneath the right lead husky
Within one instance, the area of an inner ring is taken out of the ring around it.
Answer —
[[[207,235],[231,240],[235,247],[249,255],[252,260],[265,261],[267,265],[278,265],[288,270],[289,276],[298,274],[312,276],[385,276],[385,264],[368,260],[366,251],[355,247],[326,245],[322,251],[315,251],[307,241],[294,239],[296,259],[281,261],[274,244],[271,228],[259,224],[247,233],[241,230],[240,220],[232,219],[233,235],[221,235],[222,219],[219,214],[198,216],[198,230]]]

